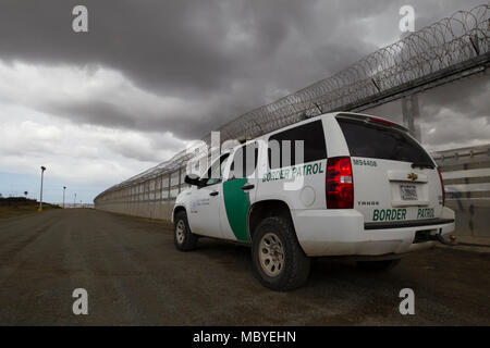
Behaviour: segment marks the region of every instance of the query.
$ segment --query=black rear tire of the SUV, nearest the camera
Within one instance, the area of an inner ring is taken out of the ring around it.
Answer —
[[[278,250],[274,249],[274,254],[271,254],[270,250],[272,247],[267,247],[267,239],[270,239],[272,236],[279,239],[279,243],[275,243],[273,247],[280,244],[282,253],[275,253]],[[262,249],[262,247],[266,248]],[[280,257],[282,262],[280,260],[270,261],[271,257],[277,259],[278,254],[282,254]],[[280,266],[273,270],[273,272],[278,272],[275,275],[267,273],[272,272],[266,265],[268,257],[269,264],[271,262],[278,262],[278,265],[280,264]],[[252,261],[254,273],[259,282],[265,287],[277,291],[295,289],[302,286],[309,275],[310,259],[299,246],[290,219],[282,216],[267,217],[257,226],[252,241]]]

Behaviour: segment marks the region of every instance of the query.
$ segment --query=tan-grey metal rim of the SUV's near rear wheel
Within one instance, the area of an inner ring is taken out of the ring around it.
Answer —
[[[284,248],[274,233],[267,233],[260,239],[259,260],[262,271],[268,276],[278,276],[284,269]]]

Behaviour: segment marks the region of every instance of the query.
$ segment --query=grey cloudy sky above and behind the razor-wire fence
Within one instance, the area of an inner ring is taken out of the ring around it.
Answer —
[[[91,202],[189,140],[485,0],[0,1],[0,192]],[[88,8],[88,33],[72,9]],[[431,149],[490,139],[488,75],[420,96]],[[463,95],[463,96],[462,96]],[[470,108],[468,108],[470,107]],[[468,111],[470,109],[470,111]],[[375,113],[400,117],[396,102]],[[462,115],[464,115],[462,117]],[[468,120],[470,122],[468,122]]]

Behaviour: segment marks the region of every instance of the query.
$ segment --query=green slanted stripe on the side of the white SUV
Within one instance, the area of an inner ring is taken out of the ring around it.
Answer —
[[[236,239],[248,241],[247,214],[250,207],[248,194],[242,190],[247,183],[246,177],[223,183],[224,208],[228,222]]]

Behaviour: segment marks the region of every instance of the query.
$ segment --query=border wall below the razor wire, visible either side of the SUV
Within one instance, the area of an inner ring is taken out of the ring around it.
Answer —
[[[490,238],[490,144],[432,153],[442,170],[445,204],[456,212],[456,234]],[[96,208],[170,220],[184,184],[185,167],[100,197]]]

